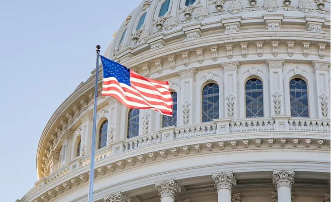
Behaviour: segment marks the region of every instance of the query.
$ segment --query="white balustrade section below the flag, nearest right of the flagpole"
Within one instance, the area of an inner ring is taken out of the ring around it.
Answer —
[[[138,136],[130,138],[123,143],[124,151],[148,146],[151,144],[157,144],[162,141],[161,134],[159,132],[147,134],[144,136]]]

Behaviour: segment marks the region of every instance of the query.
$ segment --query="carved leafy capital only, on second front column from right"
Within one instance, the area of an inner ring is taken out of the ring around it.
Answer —
[[[232,190],[233,186],[237,184],[237,180],[231,171],[222,173],[213,173],[212,179],[215,181],[215,187],[219,189]]]

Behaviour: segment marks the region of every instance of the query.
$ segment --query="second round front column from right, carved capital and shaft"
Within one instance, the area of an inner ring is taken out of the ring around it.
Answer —
[[[212,179],[217,187],[218,202],[231,202],[232,187],[237,180],[231,171],[212,174]]]

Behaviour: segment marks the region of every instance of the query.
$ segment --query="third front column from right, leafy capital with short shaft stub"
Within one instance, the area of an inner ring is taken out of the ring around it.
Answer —
[[[174,202],[175,197],[181,192],[181,187],[175,180],[155,182],[155,188],[159,190],[161,202]]]

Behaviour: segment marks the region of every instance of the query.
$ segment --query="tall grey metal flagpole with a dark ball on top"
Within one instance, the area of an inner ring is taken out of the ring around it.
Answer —
[[[95,131],[97,124],[97,97],[98,97],[98,76],[99,76],[99,58],[100,45],[97,45],[97,67],[95,71],[95,86],[94,86],[94,107],[93,107],[93,128],[92,128],[92,146],[91,146],[91,162],[90,162],[90,177],[88,202],[93,202],[93,181],[94,181],[94,156],[95,156]]]

